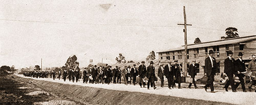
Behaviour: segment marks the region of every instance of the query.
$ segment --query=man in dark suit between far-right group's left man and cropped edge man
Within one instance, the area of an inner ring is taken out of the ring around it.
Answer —
[[[244,60],[242,59],[242,57],[243,57],[243,53],[239,52],[238,59],[235,61],[235,65],[234,65],[235,67],[234,68],[238,72],[238,74],[236,74],[236,76],[239,77],[240,83],[236,84],[234,86],[234,88],[236,90],[236,88],[239,86],[239,84],[241,84],[243,92],[247,92],[245,90],[245,85],[244,85],[244,74],[240,74],[240,72],[246,72],[246,70],[245,70],[245,63],[244,63]]]

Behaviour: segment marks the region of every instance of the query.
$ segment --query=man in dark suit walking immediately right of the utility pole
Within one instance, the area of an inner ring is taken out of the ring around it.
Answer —
[[[196,81],[195,81],[195,76],[197,75],[196,71],[196,60],[192,61],[192,64],[189,65],[189,71],[188,75],[193,79],[193,84],[195,86],[195,89],[197,88]],[[188,88],[191,88],[192,83],[189,83]]]

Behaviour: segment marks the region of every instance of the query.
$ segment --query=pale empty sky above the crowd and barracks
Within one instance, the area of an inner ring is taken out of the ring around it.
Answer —
[[[114,64],[145,60],[151,52],[184,45],[187,40],[220,40],[227,27],[240,37],[256,35],[256,1],[8,1],[0,4],[0,65],[16,68],[63,66],[76,55],[80,67],[89,60]],[[156,54],[157,55],[157,54]],[[158,58],[158,56],[157,56]]]

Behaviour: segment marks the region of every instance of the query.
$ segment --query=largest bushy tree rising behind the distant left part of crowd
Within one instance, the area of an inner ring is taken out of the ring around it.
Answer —
[[[73,55],[72,57],[69,57],[67,62],[65,63],[66,68],[76,69],[79,66],[79,62],[76,61],[76,60],[77,60],[76,55]]]

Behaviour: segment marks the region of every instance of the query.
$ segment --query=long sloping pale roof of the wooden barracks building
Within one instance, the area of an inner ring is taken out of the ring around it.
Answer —
[[[239,44],[239,43],[254,40],[254,39],[256,39],[256,35],[246,36],[246,37],[238,37],[238,38],[231,38],[231,39],[225,39],[225,40],[210,41],[210,42],[203,42],[203,43],[197,43],[197,44],[189,44],[189,45],[187,45],[187,49],[202,48],[202,47],[209,47],[209,46],[218,46],[218,45],[227,45],[227,44]],[[181,47],[160,51],[160,52],[157,52],[157,53],[184,50],[184,49],[185,48],[184,48],[184,45],[183,45]]]

